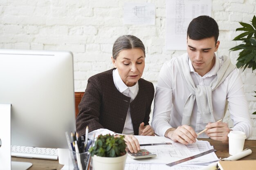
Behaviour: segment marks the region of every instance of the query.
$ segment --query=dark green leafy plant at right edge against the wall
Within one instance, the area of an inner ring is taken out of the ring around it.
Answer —
[[[234,38],[234,41],[243,41],[242,44],[231,48],[231,51],[242,50],[237,58],[237,68],[252,68],[256,69],[256,17],[252,18],[250,24],[239,22],[243,27],[236,29],[236,31],[243,31],[240,35]],[[256,91],[254,91],[256,93]],[[256,95],[254,96],[256,97]],[[253,113],[256,115],[256,112]]]

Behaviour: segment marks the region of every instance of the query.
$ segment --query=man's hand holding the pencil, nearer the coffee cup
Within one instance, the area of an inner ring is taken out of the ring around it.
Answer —
[[[215,122],[215,123],[209,123],[205,126],[205,128],[208,128],[205,133],[213,140],[216,141],[222,141],[223,144],[229,143],[229,138],[227,137],[227,134],[229,134],[230,130],[229,126],[224,122]]]

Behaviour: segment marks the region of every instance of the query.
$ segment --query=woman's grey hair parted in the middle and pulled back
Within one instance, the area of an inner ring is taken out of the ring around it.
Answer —
[[[134,35],[123,35],[115,41],[112,49],[112,56],[116,60],[120,51],[136,48],[141,49],[145,55],[145,46],[139,38]]]

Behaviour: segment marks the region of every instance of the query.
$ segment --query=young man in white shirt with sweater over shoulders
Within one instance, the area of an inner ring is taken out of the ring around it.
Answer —
[[[251,136],[243,82],[229,57],[215,55],[220,45],[218,35],[213,18],[194,18],[187,30],[187,53],[162,66],[151,123],[156,134],[182,144],[191,144],[197,137],[228,143],[230,130]],[[234,123],[231,129],[218,121],[225,116],[227,106]],[[197,136],[204,128],[208,130]]]

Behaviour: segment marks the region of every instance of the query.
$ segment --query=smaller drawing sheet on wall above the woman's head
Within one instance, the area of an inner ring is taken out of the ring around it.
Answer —
[[[127,2],[124,4],[124,24],[155,24],[155,4]]]

